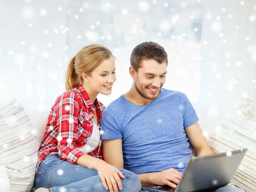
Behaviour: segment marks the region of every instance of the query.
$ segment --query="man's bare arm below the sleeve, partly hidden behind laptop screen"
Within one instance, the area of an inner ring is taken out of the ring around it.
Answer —
[[[186,127],[185,132],[189,138],[189,143],[194,147],[197,156],[213,154],[198,122]]]

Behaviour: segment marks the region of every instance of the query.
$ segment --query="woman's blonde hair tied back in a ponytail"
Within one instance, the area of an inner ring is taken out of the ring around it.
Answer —
[[[91,72],[113,54],[102,45],[89,45],[82,48],[71,59],[66,73],[66,90],[77,88],[83,82],[82,73]],[[114,56],[113,56],[114,57]]]

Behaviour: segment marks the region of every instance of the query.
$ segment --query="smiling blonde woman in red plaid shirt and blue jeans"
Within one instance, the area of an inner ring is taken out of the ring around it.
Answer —
[[[116,80],[111,51],[89,45],[67,68],[66,89],[55,101],[39,148],[36,192],[138,192],[139,177],[103,161],[97,95],[110,95]],[[40,187],[40,189],[38,189]]]

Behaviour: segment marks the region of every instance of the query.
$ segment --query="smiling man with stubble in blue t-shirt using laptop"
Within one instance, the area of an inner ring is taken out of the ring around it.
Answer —
[[[103,158],[139,175],[142,186],[175,188],[191,158],[189,143],[197,156],[212,150],[186,95],[162,88],[168,64],[164,48],[143,42],[134,48],[130,61],[131,89],[102,113]],[[227,188],[231,186],[220,190]]]

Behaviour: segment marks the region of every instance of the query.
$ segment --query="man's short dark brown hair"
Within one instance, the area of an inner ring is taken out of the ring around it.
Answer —
[[[143,42],[137,45],[131,52],[131,66],[136,71],[141,67],[143,60],[154,59],[159,64],[168,64],[168,56],[164,48],[156,42]]]

